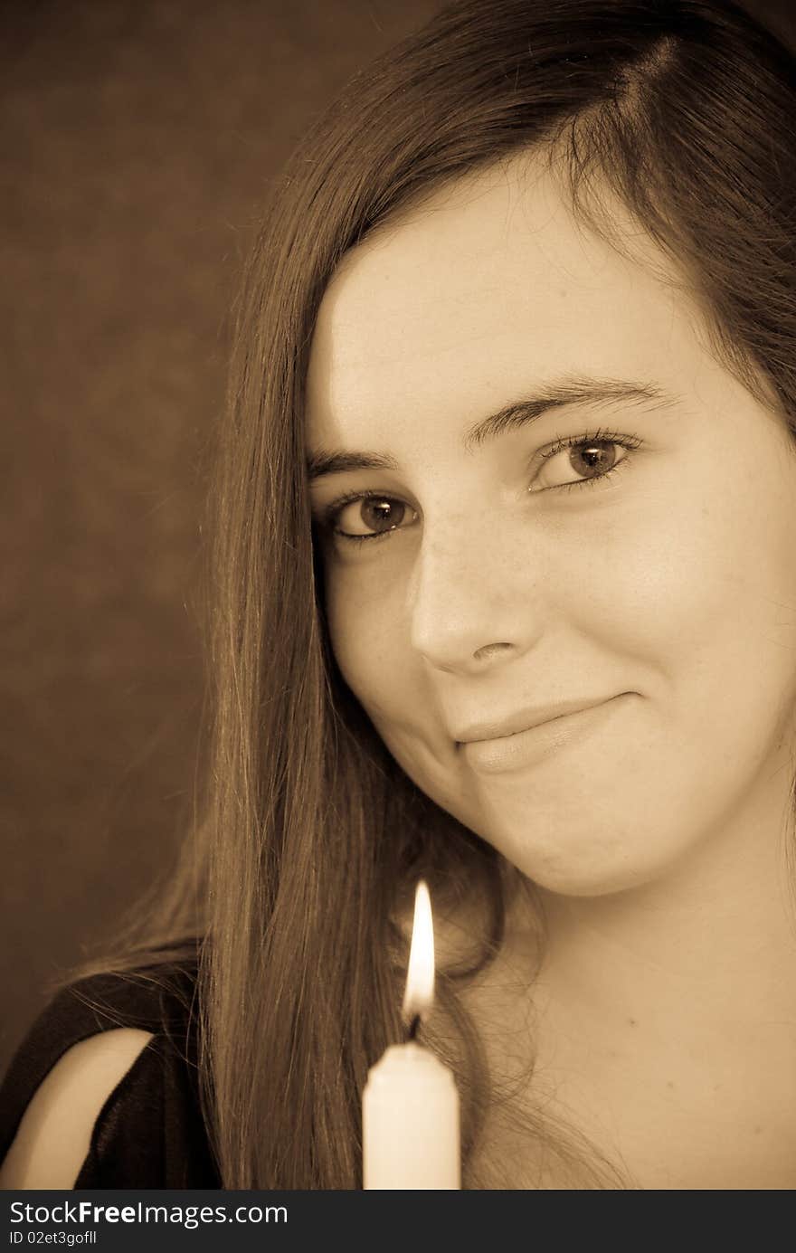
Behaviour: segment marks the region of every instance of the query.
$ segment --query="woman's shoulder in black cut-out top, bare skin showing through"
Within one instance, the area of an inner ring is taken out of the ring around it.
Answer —
[[[0,1086],[4,1187],[218,1187],[197,971],[194,944],[94,972],[50,1000]]]

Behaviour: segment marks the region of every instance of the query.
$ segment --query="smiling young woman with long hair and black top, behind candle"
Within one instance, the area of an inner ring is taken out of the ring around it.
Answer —
[[[796,1185],[795,88],[718,0],[466,0],[308,137],[206,817],[20,1050],[6,1187],[361,1187],[421,876],[464,1187]]]

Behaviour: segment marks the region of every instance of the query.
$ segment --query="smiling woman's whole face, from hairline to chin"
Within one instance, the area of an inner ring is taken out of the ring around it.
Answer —
[[[782,817],[796,457],[699,327],[516,164],[381,231],[323,298],[307,444],[340,669],[415,783],[557,892]]]

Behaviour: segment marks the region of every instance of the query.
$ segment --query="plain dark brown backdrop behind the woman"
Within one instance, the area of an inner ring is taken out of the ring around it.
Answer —
[[[790,35],[790,4],[748,8]],[[191,809],[202,450],[258,205],[437,8],[1,5],[0,1070]]]

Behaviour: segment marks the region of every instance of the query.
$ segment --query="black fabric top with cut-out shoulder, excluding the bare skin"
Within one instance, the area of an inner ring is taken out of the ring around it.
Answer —
[[[194,962],[92,975],[49,1002],[0,1085],[0,1160],[48,1071],[98,1031],[153,1037],[105,1100],[75,1188],[221,1188],[199,1106]]]

